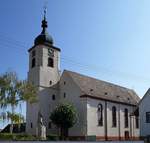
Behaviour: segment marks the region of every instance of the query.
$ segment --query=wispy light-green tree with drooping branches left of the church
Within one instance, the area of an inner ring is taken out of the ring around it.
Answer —
[[[15,109],[25,101],[30,103],[37,101],[36,88],[27,81],[19,80],[16,72],[6,72],[1,75],[0,106],[3,109],[1,118],[11,120],[10,133],[13,132],[13,123],[18,120]]]

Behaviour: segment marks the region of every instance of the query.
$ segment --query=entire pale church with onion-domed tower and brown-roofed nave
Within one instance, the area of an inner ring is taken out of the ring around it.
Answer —
[[[69,136],[94,136],[96,140],[136,140],[139,117],[135,112],[140,100],[132,89],[95,79],[81,73],[60,70],[61,49],[54,46],[44,16],[42,32],[29,52],[28,80],[37,87],[37,103],[27,103],[26,133],[37,134],[38,113],[43,117],[46,134],[58,134],[50,113],[62,102],[71,103],[78,121]]]

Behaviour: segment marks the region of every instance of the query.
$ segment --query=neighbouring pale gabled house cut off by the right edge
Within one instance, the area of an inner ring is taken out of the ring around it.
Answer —
[[[150,89],[139,103],[140,136],[150,136]]]

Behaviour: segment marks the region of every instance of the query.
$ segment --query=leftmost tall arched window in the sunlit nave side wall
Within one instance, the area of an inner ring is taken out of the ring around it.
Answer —
[[[97,115],[98,115],[98,126],[103,126],[103,106],[102,106],[102,104],[98,104]]]

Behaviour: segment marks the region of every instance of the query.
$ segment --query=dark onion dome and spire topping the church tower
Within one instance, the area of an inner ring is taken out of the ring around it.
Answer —
[[[46,20],[46,9],[44,9],[44,18],[42,20],[42,32],[35,38],[34,45],[47,44],[53,45],[53,38],[48,34],[47,27],[48,23]]]

